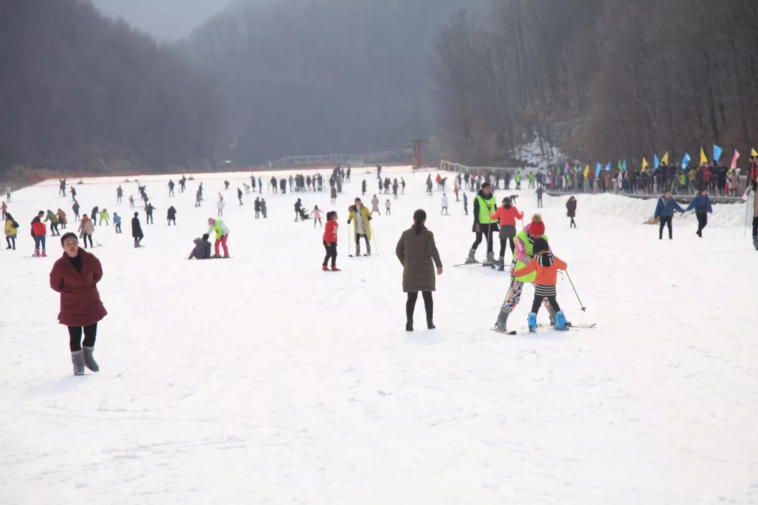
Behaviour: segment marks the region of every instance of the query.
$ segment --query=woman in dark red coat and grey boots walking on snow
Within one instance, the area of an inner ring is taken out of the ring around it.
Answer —
[[[92,352],[95,350],[97,323],[108,314],[96,287],[102,279],[102,267],[94,254],[79,248],[79,240],[74,233],[64,234],[61,245],[64,254],[52,267],[50,287],[61,294],[58,321],[68,326],[74,375],[81,376],[85,366],[92,372],[99,371]]]

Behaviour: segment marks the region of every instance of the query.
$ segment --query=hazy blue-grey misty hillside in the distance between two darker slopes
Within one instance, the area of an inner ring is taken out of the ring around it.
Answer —
[[[462,6],[488,4],[238,2],[184,44],[224,101],[218,156],[252,163],[402,149],[427,131],[440,26]]]

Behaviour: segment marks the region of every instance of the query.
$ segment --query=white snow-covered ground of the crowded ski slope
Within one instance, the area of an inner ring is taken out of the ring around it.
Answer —
[[[448,192],[440,217],[427,173],[386,172],[408,187],[372,221],[374,257],[347,257],[345,224],[374,174],[353,172],[334,207],[327,193],[298,195],[340,213],[341,273],[321,272],[321,229],[293,221],[294,195],[264,190],[268,219],[254,220],[250,196],[236,204],[240,176],[202,177],[199,209],[199,178],[170,200],[168,177],[145,176],[158,210],[154,225],[140,214],[139,250],[126,198],[115,203],[121,181],[78,185],[83,213],[124,217],[124,235],[96,229],[109,316],[102,371],[83,377],[49,288],[59,243],[30,257],[36,211],[73,216],[70,198],[57,182],[17,192],[18,250],[0,252],[0,503],[758,503],[758,270],[741,220],[714,217],[700,239],[677,217],[675,240],[659,241],[630,210],[639,201],[581,196],[569,229],[565,198],[546,197],[550,243],[587,312],[567,280],[559,301],[597,329],[506,336],[490,328],[507,274],[452,267],[473,240],[462,202]],[[225,177],[237,177],[232,259],[183,260]],[[517,203],[537,210],[528,191]],[[445,269],[437,330],[420,329],[419,300],[406,333],[393,253],[418,207]],[[521,328],[531,295],[512,316]]]

